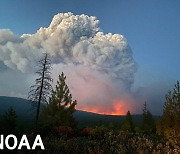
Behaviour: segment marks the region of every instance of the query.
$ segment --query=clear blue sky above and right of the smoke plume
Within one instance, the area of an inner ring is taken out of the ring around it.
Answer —
[[[164,97],[180,79],[179,0],[1,0],[0,29],[35,33],[65,12],[96,16],[104,33],[125,36],[138,64],[135,87],[166,87]]]

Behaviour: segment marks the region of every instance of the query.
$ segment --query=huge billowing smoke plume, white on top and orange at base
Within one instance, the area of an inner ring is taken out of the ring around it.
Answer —
[[[63,71],[78,109],[123,114],[133,109],[136,63],[124,36],[104,34],[96,17],[60,13],[35,34],[0,30],[0,61],[24,73],[48,52],[53,77]],[[54,83],[55,84],[55,83]]]

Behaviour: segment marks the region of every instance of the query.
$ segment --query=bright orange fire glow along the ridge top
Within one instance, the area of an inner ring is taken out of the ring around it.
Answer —
[[[105,114],[105,115],[125,115],[127,113],[128,106],[122,101],[115,101],[112,103],[112,108],[109,109],[108,106],[87,106],[87,107],[77,107],[78,110],[97,113],[97,114]]]

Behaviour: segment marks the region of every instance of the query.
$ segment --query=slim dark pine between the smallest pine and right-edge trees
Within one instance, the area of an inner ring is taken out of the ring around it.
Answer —
[[[144,133],[155,133],[156,132],[155,121],[153,119],[151,112],[147,108],[146,102],[144,103],[142,116],[143,117],[142,117],[141,130]]]

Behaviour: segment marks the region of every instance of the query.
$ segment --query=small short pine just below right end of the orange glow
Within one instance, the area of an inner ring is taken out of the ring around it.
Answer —
[[[122,129],[134,132],[134,123],[130,111],[127,112],[126,117],[122,123]]]

